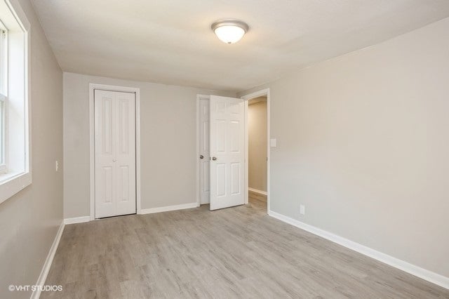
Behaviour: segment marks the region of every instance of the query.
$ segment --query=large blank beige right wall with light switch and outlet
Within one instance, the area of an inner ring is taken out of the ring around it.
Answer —
[[[272,210],[449,277],[447,36],[449,18],[241,93],[270,88]]]

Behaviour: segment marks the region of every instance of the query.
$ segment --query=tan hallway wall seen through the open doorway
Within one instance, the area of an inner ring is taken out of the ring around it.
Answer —
[[[248,187],[267,191],[267,97],[249,101]]]

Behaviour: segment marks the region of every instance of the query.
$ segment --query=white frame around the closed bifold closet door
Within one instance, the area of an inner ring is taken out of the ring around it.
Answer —
[[[90,164],[90,216],[95,220],[95,113],[94,92],[95,89],[102,91],[116,91],[121,93],[135,93],[135,206],[136,213],[141,214],[140,205],[140,88],[113,86],[105,84],[89,84],[89,164]]]

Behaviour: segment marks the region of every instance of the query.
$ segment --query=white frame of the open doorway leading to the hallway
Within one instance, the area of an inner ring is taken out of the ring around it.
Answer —
[[[270,170],[270,119],[269,119],[269,88],[262,89],[260,91],[255,91],[253,93],[248,93],[247,95],[242,95],[241,98],[245,100],[245,154],[246,154],[246,173],[245,173],[245,181],[246,181],[246,204],[248,204],[248,100],[252,100],[253,98],[259,98],[262,96],[267,97],[267,214],[270,213],[270,183],[269,183],[269,170]]]

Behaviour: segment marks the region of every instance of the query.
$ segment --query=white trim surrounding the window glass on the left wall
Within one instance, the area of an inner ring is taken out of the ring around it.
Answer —
[[[14,194],[20,192],[20,190],[23,190],[25,187],[27,187],[32,183],[32,155],[31,155],[32,135],[31,135],[31,111],[29,105],[31,100],[31,93],[30,93],[31,56],[29,47],[29,41],[31,41],[31,26],[18,0],[0,0],[0,1],[4,1],[4,4],[6,4],[6,6],[9,8],[9,11],[12,13],[13,17],[18,22],[18,25],[24,32],[23,116],[24,116],[24,133],[25,133],[25,140],[24,140],[25,167],[23,171],[17,172],[11,171],[9,173],[0,174],[0,204],[1,204],[2,202],[13,197]],[[9,83],[10,82],[8,82],[8,84]]]

